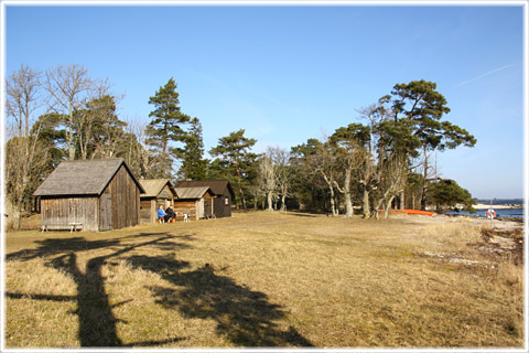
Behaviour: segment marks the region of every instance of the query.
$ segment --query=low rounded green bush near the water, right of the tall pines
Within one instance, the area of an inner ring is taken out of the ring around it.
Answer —
[[[441,179],[433,183],[428,193],[429,201],[436,205],[439,211],[453,208],[456,204],[463,205],[463,208],[475,213],[473,205],[475,201],[471,193],[461,188],[454,180]]]

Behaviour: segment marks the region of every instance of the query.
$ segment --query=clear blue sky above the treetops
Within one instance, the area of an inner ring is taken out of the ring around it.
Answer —
[[[359,119],[399,83],[436,83],[474,148],[436,153],[474,197],[525,192],[525,8],[514,6],[21,6],[4,2],[6,74],[79,64],[149,121],[173,77],[206,151],[245,129],[289,149]],[[6,77],[6,76],[4,76]]]

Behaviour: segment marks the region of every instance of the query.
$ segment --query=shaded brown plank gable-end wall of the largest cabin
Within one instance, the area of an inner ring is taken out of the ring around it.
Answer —
[[[101,231],[118,229],[140,222],[140,190],[121,165],[101,196]],[[104,207],[106,201],[106,207]]]

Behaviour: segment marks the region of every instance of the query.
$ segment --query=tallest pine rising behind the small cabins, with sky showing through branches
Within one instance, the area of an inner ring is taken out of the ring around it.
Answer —
[[[149,104],[154,110],[149,114],[151,121],[147,127],[145,142],[156,161],[153,172],[156,178],[172,178],[174,157],[179,156],[175,143],[185,142],[187,133],[183,126],[190,121],[180,109],[176,83],[172,77],[150,97]]]

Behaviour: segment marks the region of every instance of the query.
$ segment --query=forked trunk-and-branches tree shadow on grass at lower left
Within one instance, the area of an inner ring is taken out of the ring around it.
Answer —
[[[154,238],[152,238],[153,236]],[[75,313],[79,318],[78,338],[80,346],[123,346],[123,342],[116,332],[116,324],[120,320],[114,315],[112,308],[126,302],[110,306],[108,295],[105,291],[105,278],[101,274],[102,266],[111,258],[145,246],[156,246],[162,249],[190,247],[186,244],[169,242],[179,237],[166,233],[140,234],[137,237],[147,237],[147,240],[134,244],[121,244],[121,240],[130,237],[111,240],[87,240],[80,237],[69,239],[47,238],[37,242],[40,247],[35,249],[13,253],[8,255],[7,258],[8,260],[30,260],[36,257],[52,257],[47,265],[72,276],[77,285],[77,296],[41,296],[36,293],[30,295],[30,297],[36,300],[76,301],[77,310]],[[180,238],[191,239],[190,237]],[[82,271],[77,264],[77,253],[94,249],[109,249],[112,253],[89,259],[85,271]],[[22,298],[20,293],[8,292],[6,296],[13,299]],[[173,338],[163,342],[137,342],[128,345],[150,346],[179,340],[183,339]]]

